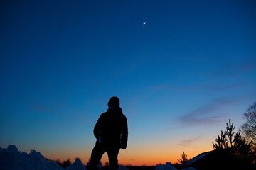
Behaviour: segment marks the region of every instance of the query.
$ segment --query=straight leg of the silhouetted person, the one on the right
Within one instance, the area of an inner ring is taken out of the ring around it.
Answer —
[[[110,170],[118,170],[119,166],[118,166],[118,153],[119,153],[119,148],[108,148],[107,149],[107,156],[109,158],[109,162],[110,162]]]

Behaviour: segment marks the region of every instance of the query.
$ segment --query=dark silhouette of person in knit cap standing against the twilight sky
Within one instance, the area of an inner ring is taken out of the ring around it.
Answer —
[[[110,169],[118,170],[119,149],[127,148],[128,125],[127,118],[120,108],[119,98],[113,96],[107,103],[109,107],[95,124],[93,133],[97,139],[90,157],[90,170],[96,170],[102,155],[107,152]]]

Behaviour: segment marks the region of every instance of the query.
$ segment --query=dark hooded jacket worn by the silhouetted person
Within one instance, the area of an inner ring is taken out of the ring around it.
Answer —
[[[122,108],[107,109],[100,115],[94,127],[94,135],[99,142],[99,135],[104,147],[119,147],[126,149],[128,140],[127,118]]]

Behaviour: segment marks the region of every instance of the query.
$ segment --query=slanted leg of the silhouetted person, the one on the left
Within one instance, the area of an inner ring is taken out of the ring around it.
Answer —
[[[106,152],[104,147],[100,145],[98,142],[95,143],[95,147],[92,149],[92,154],[90,157],[90,164],[89,169],[90,170],[97,170],[97,165],[100,162],[100,159],[102,158],[102,155]]]

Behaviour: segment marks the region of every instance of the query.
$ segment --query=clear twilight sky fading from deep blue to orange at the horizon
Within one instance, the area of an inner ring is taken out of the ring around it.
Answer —
[[[255,8],[246,0],[1,1],[0,147],[86,164],[97,118],[118,96],[129,126],[119,164],[212,150],[228,120],[238,130],[256,101]]]

